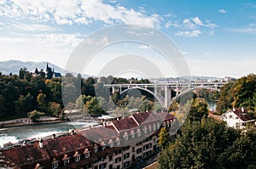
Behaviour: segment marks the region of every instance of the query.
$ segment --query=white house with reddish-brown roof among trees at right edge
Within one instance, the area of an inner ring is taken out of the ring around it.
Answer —
[[[227,122],[229,127],[242,129],[246,127],[248,123],[254,123],[253,117],[247,113],[247,110],[241,107],[241,109],[228,110],[221,119]]]

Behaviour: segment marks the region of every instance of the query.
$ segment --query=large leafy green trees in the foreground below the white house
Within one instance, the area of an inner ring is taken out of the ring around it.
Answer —
[[[207,118],[207,103],[194,99],[174,143],[161,129],[158,168],[255,168],[256,132],[241,132]]]

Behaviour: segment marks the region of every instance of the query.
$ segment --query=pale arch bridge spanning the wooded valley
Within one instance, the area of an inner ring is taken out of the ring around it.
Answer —
[[[148,84],[105,84],[104,87],[112,89],[112,93],[119,92],[121,95],[132,89],[146,91],[154,96],[160,104],[166,109],[172,104],[174,99],[181,97],[184,93],[188,93],[194,89],[206,88],[218,90],[227,82],[172,82],[172,83],[148,83]],[[164,94],[160,93],[164,91]],[[174,90],[177,95],[172,98],[171,92]]]

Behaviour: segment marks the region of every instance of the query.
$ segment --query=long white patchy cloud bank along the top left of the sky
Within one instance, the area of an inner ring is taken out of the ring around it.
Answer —
[[[141,24],[150,27],[160,25],[158,14],[147,15],[133,8],[102,3],[102,0],[9,0],[0,6],[0,15],[16,19],[52,20],[57,25],[73,23],[88,25],[100,20],[106,24]]]

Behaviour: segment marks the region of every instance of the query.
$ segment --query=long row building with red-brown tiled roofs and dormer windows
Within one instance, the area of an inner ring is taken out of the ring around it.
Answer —
[[[175,116],[137,113],[103,127],[1,149],[0,157],[11,168],[132,168],[159,152],[160,127],[166,127],[171,138],[177,137]]]

